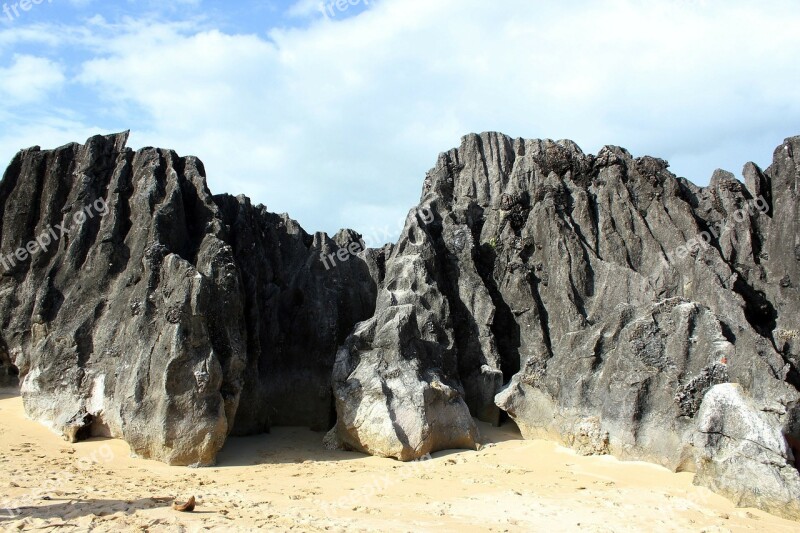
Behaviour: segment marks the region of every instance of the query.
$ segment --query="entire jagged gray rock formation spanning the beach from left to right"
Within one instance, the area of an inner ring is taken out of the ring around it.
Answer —
[[[510,416],[800,519],[800,137],[698,187],[618,147],[469,135],[399,241],[357,253],[125,137],[25,150],[0,183],[0,376],[67,438],[210,464],[231,433],[333,426],[411,460]]]

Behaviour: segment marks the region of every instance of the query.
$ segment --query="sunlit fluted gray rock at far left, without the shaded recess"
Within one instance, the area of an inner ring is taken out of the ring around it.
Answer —
[[[25,150],[6,171],[3,341],[26,411],[65,438],[209,464],[241,391],[240,278],[201,163],[126,137]]]

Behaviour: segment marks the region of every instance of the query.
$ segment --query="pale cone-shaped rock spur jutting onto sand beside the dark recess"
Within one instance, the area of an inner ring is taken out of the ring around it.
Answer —
[[[432,242],[414,216],[385,261],[378,312],[339,350],[335,432],[352,449],[408,461],[476,446]]]

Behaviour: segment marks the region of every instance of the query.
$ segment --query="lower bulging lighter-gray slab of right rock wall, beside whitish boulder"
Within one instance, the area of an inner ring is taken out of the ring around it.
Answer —
[[[771,374],[761,358],[739,354],[723,327],[708,308],[682,298],[620,306],[601,324],[561,337],[546,365],[523,369],[498,405],[526,438],[694,470],[692,435],[706,393],[719,383],[749,383],[751,373]],[[774,378],[751,387],[764,405],[796,398]]]

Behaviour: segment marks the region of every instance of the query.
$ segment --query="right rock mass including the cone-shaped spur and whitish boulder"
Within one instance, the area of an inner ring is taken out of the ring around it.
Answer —
[[[426,177],[419,209],[432,221],[412,211],[375,316],[337,356],[340,439],[401,458],[430,446],[407,445],[400,428],[446,440],[437,411],[397,400],[432,372],[482,420],[508,413],[528,438],[705,472],[699,483],[800,518],[781,503],[800,497],[788,456],[722,465],[709,457],[724,450],[735,463],[746,432],[697,438],[718,411],[709,391],[729,383],[750,418],[768,414],[770,438],[800,436],[795,154],[800,138],[766,171],[748,164],[747,187],[718,171],[700,188],[617,147],[592,156],[570,141],[465,137]],[[412,339],[446,356],[419,355]],[[753,481],[762,476],[776,480],[770,491]]]

